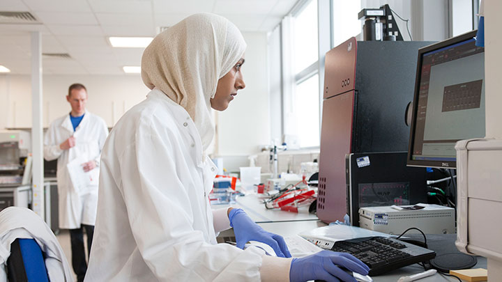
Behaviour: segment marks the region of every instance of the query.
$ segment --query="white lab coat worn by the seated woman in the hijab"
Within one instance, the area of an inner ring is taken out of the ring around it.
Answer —
[[[216,169],[202,156],[187,111],[160,90],[119,120],[102,152],[86,281],[259,281],[263,251],[216,244]]]

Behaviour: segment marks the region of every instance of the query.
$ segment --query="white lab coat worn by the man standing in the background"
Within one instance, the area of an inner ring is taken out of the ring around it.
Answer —
[[[75,147],[70,150],[61,150],[59,145],[72,135],[75,136]],[[95,224],[99,165],[89,172],[93,179],[91,185],[80,193],[73,189],[66,165],[78,156],[83,156],[86,162],[96,160],[99,163],[100,153],[107,136],[108,128],[105,120],[89,111],[86,111],[75,132],[69,114],[54,120],[47,130],[44,139],[44,157],[48,161],[58,160],[59,228],[75,229],[81,224]]]

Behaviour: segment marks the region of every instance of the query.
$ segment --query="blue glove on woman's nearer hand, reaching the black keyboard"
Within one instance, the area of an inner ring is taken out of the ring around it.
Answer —
[[[303,282],[309,280],[324,281],[351,281],[356,282],[347,272],[340,267],[345,267],[351,272],[367,275],[370,268],[362,261],[349,253],[337,253],[335,251],[320,251],[304,258],[291,260],[289,269],[289,281]]]

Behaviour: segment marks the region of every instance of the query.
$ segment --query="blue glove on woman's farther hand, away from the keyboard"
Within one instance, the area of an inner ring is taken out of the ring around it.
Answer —
[[[291,258],[284,238],[265,231],[264,228],[255,224],[243,210],[231,210],[229,212],[229,220],[230,226],[234,228],[238,248],[244,249],[245,244],[249,241],[258,241],[271,246],[277,256]]]

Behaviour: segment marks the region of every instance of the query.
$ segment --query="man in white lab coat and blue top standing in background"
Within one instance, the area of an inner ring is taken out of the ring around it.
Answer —
[[[84,281],[87,263],[83,229],[90,253],[98,206],[100,154],[108,128],[105,120],[86,111],[87,90],[82,84],[72,84],[66,100],[71,111],[51,123],[45,134],[44,157],[47,161],[57,159],[59,228],[70,230],[73,271],[78,281]],[[72,166],[75,163],[76,169]]]

